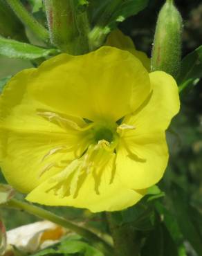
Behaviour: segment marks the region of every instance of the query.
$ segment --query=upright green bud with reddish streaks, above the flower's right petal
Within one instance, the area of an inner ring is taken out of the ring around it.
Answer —
[[[152,71],[165,71],[174,77],[177,75],[181,66],[182,28],[181,14],[173,0],[167,0],[158,15],[152,49]]]

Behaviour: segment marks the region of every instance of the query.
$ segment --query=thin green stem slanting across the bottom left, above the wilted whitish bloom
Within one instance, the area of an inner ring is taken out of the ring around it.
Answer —
[[[104,255],[112,255],[112,248],[107,243],[107,241],[104,241],[101,237],[98,237],[98,235],[91,232],[90,230],[77,226],[75,223],[67,221],[64,218],[57,216],[53,212],[48,212],[48,210],[44,210],[30,203],[18,201],[17,199],[11,199],[10,201],[8,201],[8,203],[5,203],[3,206],[15,208],[17,210],[25,210],[26,212],[33,214],[41,219],[47,219],[48,221],[52,221],[53,223],[56,223],[59,226],[73,230],[78,235],[81,235],[86,240],[90,241],[93,244],[93,246],[95,246],[99,250],[102,250]]]

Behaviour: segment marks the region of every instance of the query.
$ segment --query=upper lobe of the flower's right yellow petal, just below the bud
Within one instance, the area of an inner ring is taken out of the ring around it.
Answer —
[[[162,71],[149,73],[152,93],[137,111],[125,117],[123,122],[134,125],[136,136],[151,131],[165,131],[180,109],[178,86],[171,75]],[[129,136],[131,131],[127,132]]]

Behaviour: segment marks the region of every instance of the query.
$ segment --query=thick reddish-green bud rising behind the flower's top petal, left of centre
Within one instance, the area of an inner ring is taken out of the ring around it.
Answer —
[[[75,0],[45,0],[50,41],[66,53],[80,55],[89,51],[89,20]]]

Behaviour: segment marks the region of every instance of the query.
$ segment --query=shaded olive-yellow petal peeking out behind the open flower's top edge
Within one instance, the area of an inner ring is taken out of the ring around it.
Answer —
[[[140,60],[140,62],[143,63],[143,66],[145,66],[147,71],[150,71],[150,59],[145,53],[136,50],[136,46],[134,46],[134,42],[132,41],[132,39],[127,35],[124,35],[121,30],[113,30],[107,37],[107,42],[105,45],[129,51],[134,56],[136,56]]]

